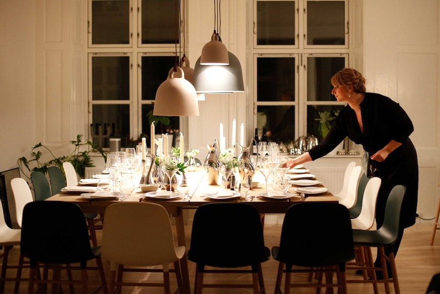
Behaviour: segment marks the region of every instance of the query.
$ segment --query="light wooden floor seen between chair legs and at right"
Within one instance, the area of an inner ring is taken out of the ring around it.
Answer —
[[[278,245],[279,237],[281,232],[281,225],[265,225],[264,227],[264,235],[266,246],[272,248],[274,245]],[[400,247],[399,254],[396,258],[397,270],[399,274],[400,281],[400,290],[402,294],[417,294],[417,293],[425,293],[426,288],[431,280],[431,277],[440,273],[440,232],[437,233],[437,239],[434,241],[434,245],[430,246],[429,241],[431,238],[432,232],[432,224],[415,224],[413,227],[405,230],[405,234],[402,240],[402,244]],[[100,241],[101,231],[98,231],[98,238]],[[186,228],[186,237],[187,244],[189,244],[190,237],[190,228],[187,226]],[[127,248],[127,250],[130,250]],[[237,250],[246,250],[246,248],[237,248]],[[14,248],[11,253],[10,261],[16,263],[18,258],[19,248]],[[104,265],[106,267],[106,271],[108,273],[109,263],[104,261]],[[263,273],[264,273],[264,282],[266,285],[266,293],[274,292],[275,278],[277,272],[278,263],[271,259],[263,264]],[[189,273],[190,273],[190,284],[191,291],[193,290],[194,284],[194,272],[195,272],[195,264],[189,262]],[[15,273],[12,270],[8,273],[8,277],[13,276]],[[23,275],[27,275],[28,272],[25,271]],[[212,276],[212,275],[211,275]],[[134,280],[155,280],[160,282],[161,276],[158,274],[132,274],[130,276]],[[172,280],[172,292],[175,290],[175,277],[171,275]],[[305,277],[300,277],[305,279]],[[348,279],[359,279],[359,276],[356,276],[353,271],[348,271],[347,273]],[[249,275],[241,274],[238,277],[230,277],[230,276],[221,276],[211,277],[209,278],[206,275],[205,281],[209,280],[223,280],[227,281],[231,280],[239,280],[240,282],[249,282],[251,278]],[[95,273],[89,274],[89,289],[91,290],[95,285],[97,285],[98,278]],[[68,292],[68,289],[65,287],[65,293]],[[91,292],[91,291],[90,291]],[[215,293],[252,293],[251,289],[247,288],[237,288],[237,289],[209,289],[206,288],[203,290],[205,294]],[[294,291],[292,291],[294,292]],[[373,293],[373,288],[371,284],[349,284],[348,285],[349,293],[356,294],[369,294]],[[385,293],[383,286],[379,287],[380,293]],[[13,293],[13,282],[7,282],[5,293]],[[26,293],[26,284],[23,283],[20,285],[19,293]],[[77,291],[80,293],[80,290]],[[123,288],[123,294],[127,293],[163,293],[162,288],[139,288],[139,287],[125,287]],[[312,288],[306,288],[301,291],[295,291],[295,293],[315,293],[315,290]],[[392,289],[392,293],[394,290]]]

